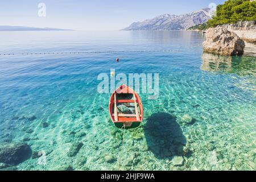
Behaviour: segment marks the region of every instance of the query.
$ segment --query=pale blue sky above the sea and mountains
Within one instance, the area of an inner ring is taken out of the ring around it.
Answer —
[[[38,4],[46,4],[46,17]],[[0,25],[119,30],[161,14],[185,14],[224,0],[8,0],[0,1]]]

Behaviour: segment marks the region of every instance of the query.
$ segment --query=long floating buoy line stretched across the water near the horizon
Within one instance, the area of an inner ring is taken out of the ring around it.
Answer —
[[[23,52],[0,53],[0,55],[61,55],[61,54],[85,54],[85,53],[126,53],[126,52],[180,52],[179,50],[131,50],[131,51],[77,51],[77,52]]]

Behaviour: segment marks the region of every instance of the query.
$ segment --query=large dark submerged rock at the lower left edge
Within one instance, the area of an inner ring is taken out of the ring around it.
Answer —
[[[26,143],[0,143],[0,163],[17,165],[29,159],[31,155],[32,150]]]

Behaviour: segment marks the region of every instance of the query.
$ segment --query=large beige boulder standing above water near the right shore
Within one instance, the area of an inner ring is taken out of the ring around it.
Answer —
[[[209,28],[207,40],[203,43],[204,52],[217,55],[243,55],[245,42],[236,33],[228,31],[224,27]]]

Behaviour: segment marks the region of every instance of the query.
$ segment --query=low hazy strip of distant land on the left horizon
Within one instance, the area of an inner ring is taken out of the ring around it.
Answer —
[[[59,28],[36,28],[36,27],[20,27],[20,26],[0,26],[0,31],[71,31]]]

